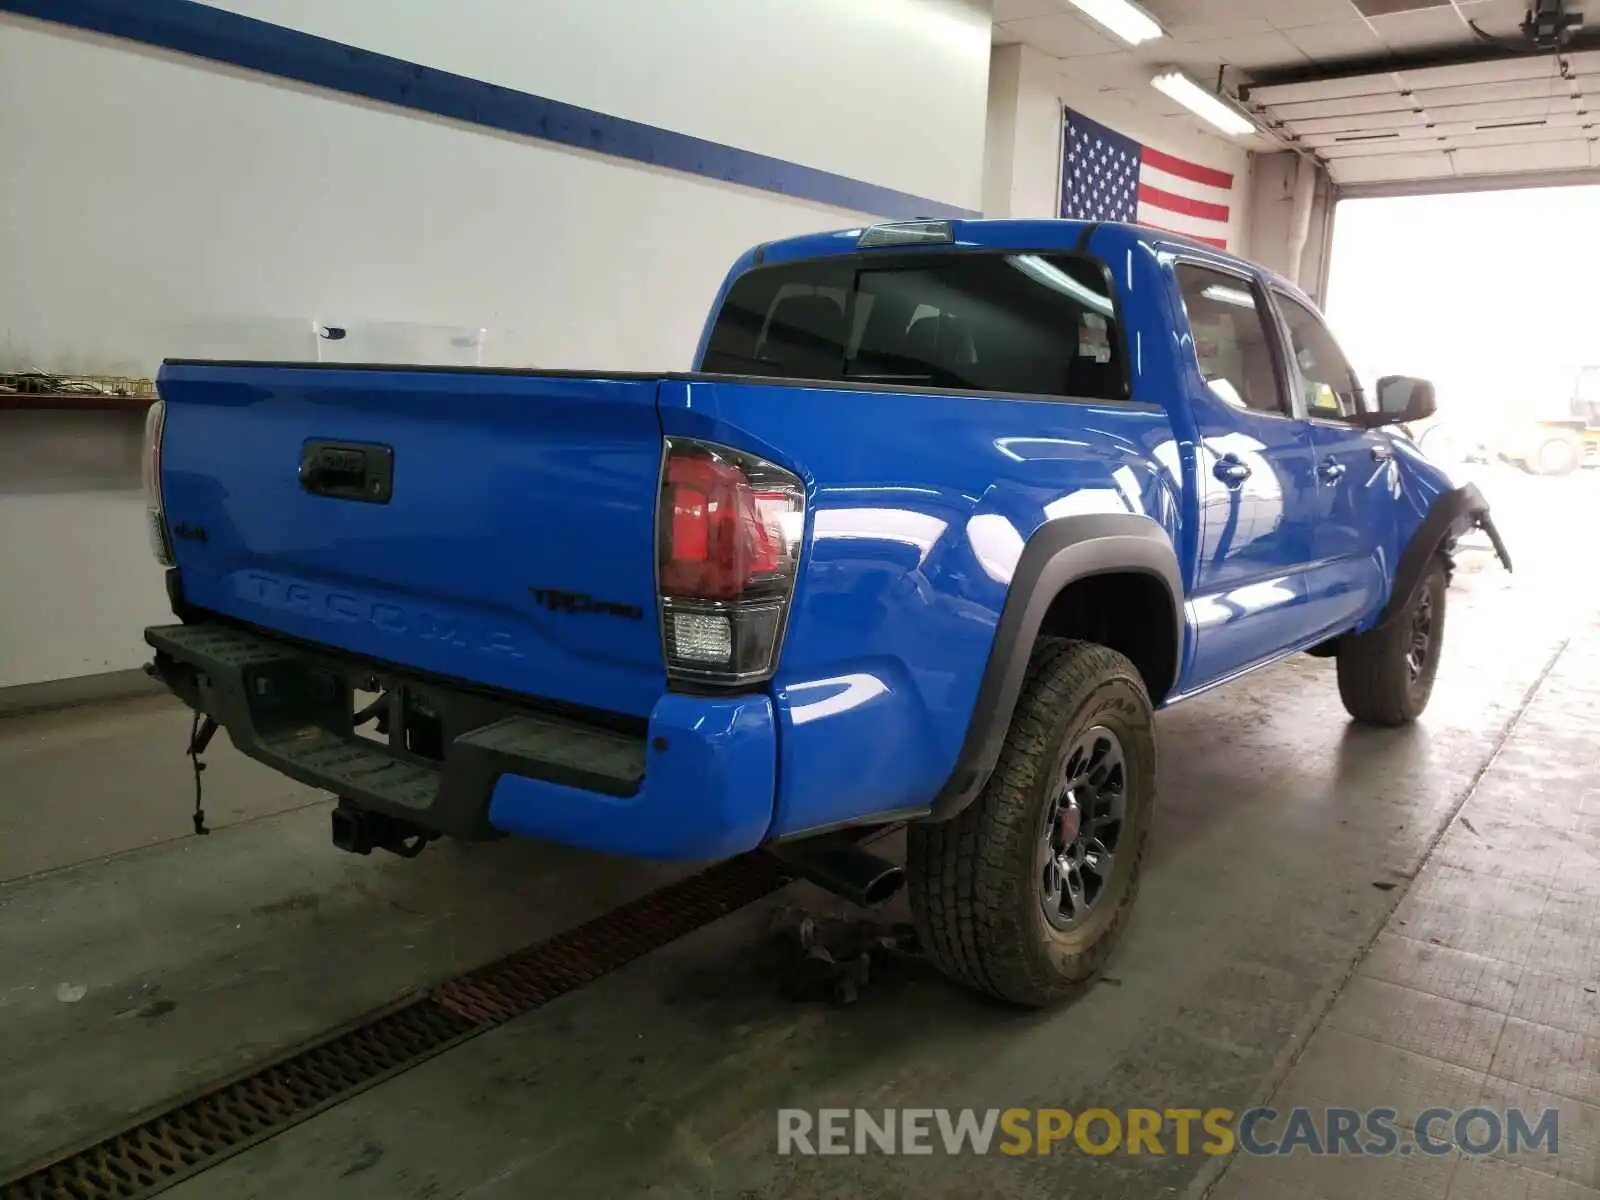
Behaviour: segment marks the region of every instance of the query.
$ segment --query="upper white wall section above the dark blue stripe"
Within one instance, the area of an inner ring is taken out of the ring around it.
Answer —
[[[979,206],[987,3],[205,3],[958,208]]]

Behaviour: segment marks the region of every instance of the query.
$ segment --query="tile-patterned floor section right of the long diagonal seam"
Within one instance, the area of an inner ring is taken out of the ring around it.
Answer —
[[[1406,1195],[1600,1198],[1597,701],[1600,622],[1555,662],[1272,1098],[1560,1114],[1555,1155],[1413,1157]],[[1394,1170],[1248,1158],[1216,1195],[1371,1195]]]

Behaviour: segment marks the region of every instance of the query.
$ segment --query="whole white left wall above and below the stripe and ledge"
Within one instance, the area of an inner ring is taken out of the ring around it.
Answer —
[[[979,205],[982,0],[235,6]],[[746,246],[874,216],[8,16],[0,146],[0,370],[306,358],[314,320],[398,330],[418,357],[483,328],[488,365],[683,368]],[[138,427],[0,411],[0,688],[144,661],[165,598]]]

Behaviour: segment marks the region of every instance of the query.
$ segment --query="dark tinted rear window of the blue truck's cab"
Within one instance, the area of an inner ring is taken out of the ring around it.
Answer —
[[[1125,400],[1104,269],[1070,254],[861,256],[757,267],[701,370]]]

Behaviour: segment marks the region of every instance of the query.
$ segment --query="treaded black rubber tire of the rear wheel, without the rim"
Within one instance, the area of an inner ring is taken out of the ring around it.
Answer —
[[[1125,755],[1125,814],[1106,891],[1072,930],[1045,917],[1037,869],[1050,790],[1075,739],[1110,730]],[[1155,806],[1155,723],[1138,669],[1090,642],[1042,643],[994,774],[958,816],[907,830],[917,933],[968,987],[1042,1006],[1104,966],[1139,890]]]

